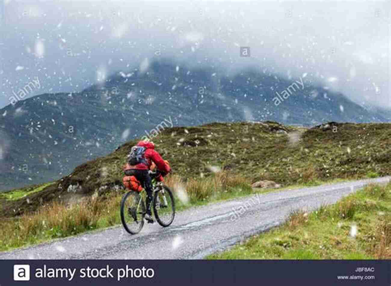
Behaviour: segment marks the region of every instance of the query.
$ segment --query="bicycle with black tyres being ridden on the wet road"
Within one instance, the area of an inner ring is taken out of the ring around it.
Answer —
[[[149,171],[152,177],[152,206],[156,221],[163,226],[169,226],[175,217],[175,201],[172,191],[163,182],[157,182],[158,172]],[[141,192],[129,190],[122,197],[121,201],[121,221],[125,230],[130,234],[139,233],[144,226],[145,207],[145,189]]]

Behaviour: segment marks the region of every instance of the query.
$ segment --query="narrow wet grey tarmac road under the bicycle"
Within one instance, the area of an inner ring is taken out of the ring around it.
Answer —
[[[281,224],[293,210],[314,210],[371,182],[388,183],[390,178],[254,194],[177,213],[168,228],[145,223],[139,234],[129,235],[117,226],[0,252],[0,259],[200,259]]]

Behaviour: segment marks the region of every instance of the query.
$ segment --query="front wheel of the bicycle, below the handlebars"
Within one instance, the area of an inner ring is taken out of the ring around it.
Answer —
[[[169,226],[175,217],[175,201],[169,187],[163,185],[155,192],[153,199],[153,212],[161,226]]]

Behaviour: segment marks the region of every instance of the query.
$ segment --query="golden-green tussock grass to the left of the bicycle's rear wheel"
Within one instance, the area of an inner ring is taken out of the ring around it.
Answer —
[[[102,198],[90,198],[72,206],[54,201],[35,213],[4,221],[0,224],[0,250],[117,224],[120,221],[120,199],[120,195],[110,194]],[[99,224],[102,218],[106,219],[103,225]]]

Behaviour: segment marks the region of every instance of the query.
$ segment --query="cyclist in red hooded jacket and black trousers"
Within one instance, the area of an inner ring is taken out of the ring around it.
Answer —
[[[153,222],[152,212],[151,212],[151,202],[152,202],[152,178],[149,175],[149,169],[151,164],[156,164],[159,172],[162,176],[167,175],[171,172],[171,168],[158,152],[154,150],[155,145],[150,140],[140,141],[136,145],[137,147],[144,147],[145,152],[143,154],[143,160],[141,163],[132,166],[129,162],[124,166],[124,171],[127,176],[134,176],[142,184],[145,191],[147,192],[146,199],[146,214],[145,219],[149,222]]]

